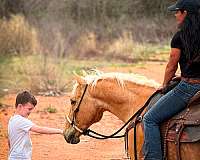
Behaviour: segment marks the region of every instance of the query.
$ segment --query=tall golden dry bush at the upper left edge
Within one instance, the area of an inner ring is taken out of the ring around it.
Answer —
[[[0,19],[0,53],[32,54],[39,47],[37,31],[20,15]]]

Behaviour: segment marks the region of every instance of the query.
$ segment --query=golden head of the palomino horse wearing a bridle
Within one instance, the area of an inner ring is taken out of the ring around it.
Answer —
[[[102,118],[103,105],[93,96],[93,90],[91,84],[76,75],[76,84],[70,98],[70,112],[66,116],[64,130],[64,137],[68,143],[79,143],[84,131]]]

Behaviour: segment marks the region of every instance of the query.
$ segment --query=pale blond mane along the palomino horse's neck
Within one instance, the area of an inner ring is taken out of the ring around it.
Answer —
[[[124,81],[130,81],[139,85],[149,86],[153,88],[158,88],[160,84],[155,80],[148,79],[147,77],[139,74],[127,74],[119,72],[102,73],[96,75],[87,75],[83,77],[87,84],[92,84],[93,87],[96,86],[99,80],[105,80],[108,78],[116,79],[118,84],[124,88]]]

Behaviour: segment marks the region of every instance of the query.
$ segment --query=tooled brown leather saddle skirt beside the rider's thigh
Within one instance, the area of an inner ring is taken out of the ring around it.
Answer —
[[[161,93],[155,95],[148,108],[162,96]],[[161,135],[165,140],[175,143],[200,140],[200,91],[192,97],[185,110],[161,125]]]

